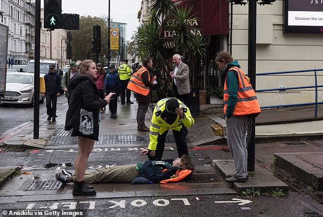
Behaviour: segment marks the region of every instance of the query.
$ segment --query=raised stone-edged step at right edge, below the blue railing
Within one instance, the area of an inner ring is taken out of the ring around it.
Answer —
[[[323,190],[323,152],[275,153],[274,158],[278,168],[315,190]]]

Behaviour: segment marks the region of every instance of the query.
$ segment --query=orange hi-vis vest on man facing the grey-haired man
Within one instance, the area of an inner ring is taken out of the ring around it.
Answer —
[[[141,75],[145,71],[148,72],[146,67],[143,66],[137,72],[133,73],[128,83],[127,89],[137,92],[138,94],[147,96],[149,94],[149,87],[145,86],[143,79],[141,78]],[[149,72],[148,72],[148,80],[150,81]]]

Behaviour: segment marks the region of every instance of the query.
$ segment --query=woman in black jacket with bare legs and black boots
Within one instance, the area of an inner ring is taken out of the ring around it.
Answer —
[[[73,76],[69,83],[72,95],[66,113],[65,130],[73,129],[72,136],[77,136],[78,139],[78,153],[74,164],[76,175],[74,196],[96,194],[92,187],[84,184],[84,175],[93,145],[99,140],[99,108],[105,107],[113,95],[100,100],[99,90],[93,81],[96,76],[94,61],[84,60],[79,74]]]

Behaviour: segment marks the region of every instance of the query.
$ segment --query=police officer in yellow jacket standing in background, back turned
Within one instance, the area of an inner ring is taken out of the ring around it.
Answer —
[[[131,78],[131,70],[130,67],[127,65],[128,64],[128,59],[123,60],[123,64],[119,67],[118,69],[118,74],[120,76],[121,80],[121,104],[133,104],[133,102],[130,101],[130,94],[131,91],[127,89],[129,80]],[[126,93],[125,93],[126,92]],[[125,102],[126,98],[126,102]]]

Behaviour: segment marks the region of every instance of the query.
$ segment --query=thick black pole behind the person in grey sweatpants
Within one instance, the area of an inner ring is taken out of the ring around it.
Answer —
[[[248,77],[254,89],[256,89],[256,19],[257,19],[257,2],[251,0],[249,4],[248,17]],[[252,118],[250,141],[248,144],[248,171],[255,171],[255,118]]]

